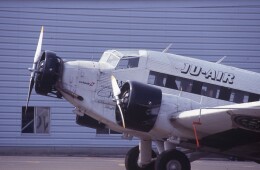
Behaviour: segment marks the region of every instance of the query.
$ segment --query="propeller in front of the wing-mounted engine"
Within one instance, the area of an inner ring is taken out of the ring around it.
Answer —
[[[111,76],[111,82],[112,82],[112,90],[113,90],[113,95],[115,96],[115,99],[116,99],[116,104],[118,106],[118,109],[119,109],[119,112],[120,112],[120,115],[121,115],[121,119],[122,119],[122,123],[123,123],[123,127],[125,128],[125,118],[124,118],[124,115],[123,115],[123,112],[122,112],[122,108],[121,108],[121,103],[120,103],[120,99],[119,99],[119,95],[121,93],[121,90],[117,84],[117,81],[116,81],[116,78],[112,75]]]

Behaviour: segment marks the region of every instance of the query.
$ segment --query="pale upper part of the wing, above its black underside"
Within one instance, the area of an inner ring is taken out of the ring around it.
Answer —
[[[196,130],[200,137],[234,128],[260,134],[260,102],[184,111],[177,117],[172,117],[172,124],[181,129],[192,130],[193,125],[197,125]]]

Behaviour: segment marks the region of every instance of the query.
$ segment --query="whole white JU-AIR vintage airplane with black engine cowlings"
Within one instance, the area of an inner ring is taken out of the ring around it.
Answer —
[[[26,108],[35,82],[36,93],[72,103],[79,125],[140,138],[126,155],[127,170],[189,170],[207,153],[260,162],[259,73],[167,49],[108,50],[99,62],[63,61],[41,53],[42,39],[43,28]]]

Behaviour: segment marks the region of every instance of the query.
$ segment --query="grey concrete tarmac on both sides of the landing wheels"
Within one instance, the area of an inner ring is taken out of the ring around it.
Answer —
[[[124,158],[0,156],[0,170],[125,170]],[[260,170],[254,162],[198,160],[192,170]]]

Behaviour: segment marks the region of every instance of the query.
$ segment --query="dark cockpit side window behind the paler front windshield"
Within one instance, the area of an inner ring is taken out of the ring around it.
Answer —
[[[116,69],[128,69],[138,67],[139,57],[123,57],[116,66]]]

